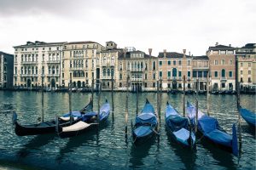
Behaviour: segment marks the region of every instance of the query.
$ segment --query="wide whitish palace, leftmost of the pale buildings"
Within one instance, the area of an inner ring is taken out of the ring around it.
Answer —
[[[15,46],[14,85],[61,86],[61,50],[65,42],[26,42]]]

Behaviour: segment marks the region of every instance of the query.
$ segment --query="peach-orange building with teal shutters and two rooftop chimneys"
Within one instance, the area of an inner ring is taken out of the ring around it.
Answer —
[[[164,90],[182,89],[183,76],[185,76],[185,88],[193,88],[192,57],[176,52],[160,52],[158,55],[159,79],[162,80]]]

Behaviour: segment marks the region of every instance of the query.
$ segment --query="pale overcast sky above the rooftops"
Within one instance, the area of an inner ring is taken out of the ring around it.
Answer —
[[[0,0],[0,51],[26,41],[113,41],[155,56],[202,55],[215,42],[256,42],[255,8],[255,0]]]

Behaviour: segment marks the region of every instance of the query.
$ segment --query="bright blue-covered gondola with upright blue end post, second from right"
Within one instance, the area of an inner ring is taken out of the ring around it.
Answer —
[[[195,125],[196,109],[195,106],[191,105],[189,102],[187,103],[187,113],[192,124]],[[232,135],[230,135],[219,127],[217,119],[198,111],[198,133],[212,144],[216,144],[218,148],[227,150],[235,156],[238,155],[235,124],[233,124]]]

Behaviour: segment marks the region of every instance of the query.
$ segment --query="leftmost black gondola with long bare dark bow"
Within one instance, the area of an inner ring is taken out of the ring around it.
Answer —
[[[79,122],[84,114],[92,110],[92,106],[92,100],[90,99],[90,103],[86,105],[81,111],[72,111],[72,116],[70,116],[70,113],[64,114],[59,118],[60,125],[63,127],[69,126],[71,123],[70,117],[73,118],[72,123]],[[14,112],[13,123],[15,125],[15,133],[18,136],[55,133],[55,120],[30,125],[21,125],[17,120],[17,114]]]

